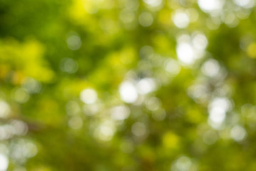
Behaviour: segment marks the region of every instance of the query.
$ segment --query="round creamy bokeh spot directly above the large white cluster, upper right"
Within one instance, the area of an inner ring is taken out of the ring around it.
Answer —
[[[172,20],[174,21],[175,26],[178,28],[186,28],[190,22],[188,14],[181,10],[175,11],[174,15],[172,16]]]

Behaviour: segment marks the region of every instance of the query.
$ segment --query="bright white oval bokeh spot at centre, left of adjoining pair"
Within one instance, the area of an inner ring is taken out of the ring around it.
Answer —
[[[134,103],[138,98],[137,90],[133,83],[124,81],[119,86],[121,99],[126,103]]]

